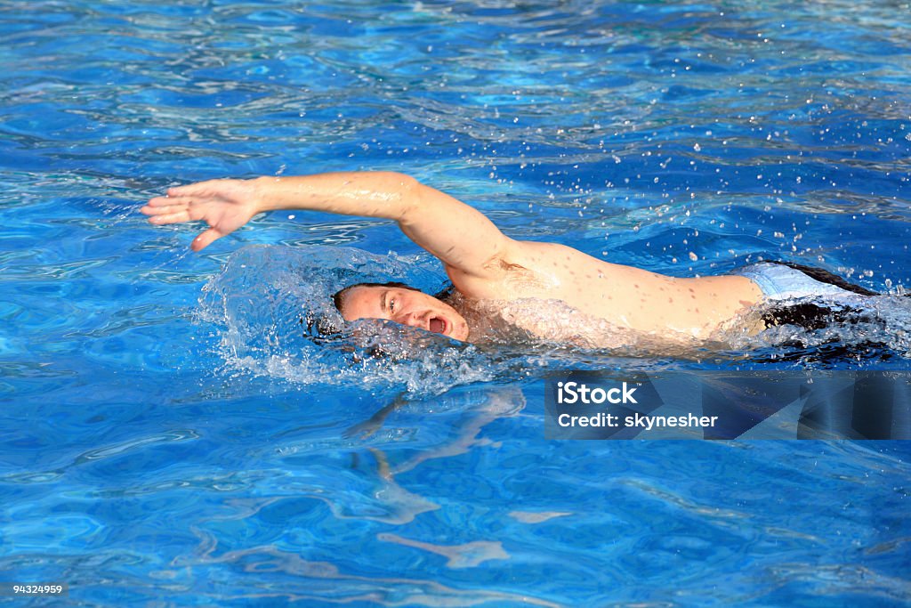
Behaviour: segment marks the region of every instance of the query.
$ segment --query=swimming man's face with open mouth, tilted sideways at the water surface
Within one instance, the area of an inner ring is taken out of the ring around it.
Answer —
[[[455,308],[404,283],[357,283],[333,295],[345,321],[385,319],[466,341],[468,324]]]

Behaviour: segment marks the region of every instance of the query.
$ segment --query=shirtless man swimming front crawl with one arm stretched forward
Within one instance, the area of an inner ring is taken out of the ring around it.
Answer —
[[[205,221],[199,251],[271,210],[329,211],[398,222],[440,260],[445,298],[408,285],[353,284],[336,291],[345,321],[393,321],[470,343],[531,338],[589,348],[674,353],[733,344],[776,324],[757,307],[824,298],[835,306],[872,297],[819,281],[805,268],[754,264],[721,276],[678,278],[607,263],[555,242],[508,238],[461,201],[398,173],[213,180],[148,201],[149,222]],[[846,283],[845,283],[846,284]]]

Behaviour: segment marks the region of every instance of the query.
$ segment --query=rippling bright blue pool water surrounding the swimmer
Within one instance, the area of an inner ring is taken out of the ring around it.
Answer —
[[[568,370],[909,368],[911,5],[9,0],[0,39],[0,582],[69,585],[0,601],[911,603],[907,442],[544,438]],[[193,254],[137,212],[324,170],[660,273],[821,266],[886,322],[374,357],[306,322],[343,277],[445,284],[390,222]]]

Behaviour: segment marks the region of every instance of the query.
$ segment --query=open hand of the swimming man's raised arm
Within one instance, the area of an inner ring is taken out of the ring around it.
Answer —
[[[260,193],[254,180],[210,180],[171,188],[140,209],[149,223],[206,222],[209,230],[193,239],[198,252],[234,232],[261,211]]]

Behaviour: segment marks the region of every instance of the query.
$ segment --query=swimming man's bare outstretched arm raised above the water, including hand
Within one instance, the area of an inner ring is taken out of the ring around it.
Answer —
[[[328,211],[398,222],[414,242],[447,266],[472,276],[496,273],[513,241],[484,214],[402,173],[363,171],[256,180],[211,180],[171,188],[140,211],[149,222],[204,221],[192,243],[200,251],[257,213]]]

